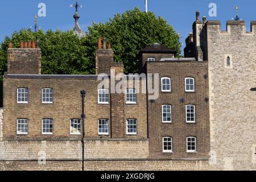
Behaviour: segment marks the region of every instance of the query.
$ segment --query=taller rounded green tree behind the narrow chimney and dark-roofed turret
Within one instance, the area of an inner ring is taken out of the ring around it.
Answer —
[[[106,23],[93,23],[89,27],[84,45],[89,60],[94,63],[98,36],[105,36],[112,44],[114,60],[123,62],[126,73],[138,72],[138,53],[141,49],[160,43],[180,53],[179,35],[162,17],[145,13],[137,7],[117,14]]]

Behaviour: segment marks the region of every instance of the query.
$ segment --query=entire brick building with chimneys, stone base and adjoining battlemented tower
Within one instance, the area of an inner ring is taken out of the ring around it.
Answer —
[[[40,75],[35,43],[10,46],[0,169],[80,170],[83,130],[86,169],[255,169],[255,22],[251,32],[242,21],[227,27],[197,12],[185,58],[155,43],[139,53],[140,76],[123,75],[101,38],[96,75]]]

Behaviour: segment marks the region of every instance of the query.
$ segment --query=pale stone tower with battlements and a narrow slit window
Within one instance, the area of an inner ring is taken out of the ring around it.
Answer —
[[[221,170],[256,169],[256,35],[245,22],[209,21],[207,31],[212,158]],[[230,57],[230,66],[226,57]]]

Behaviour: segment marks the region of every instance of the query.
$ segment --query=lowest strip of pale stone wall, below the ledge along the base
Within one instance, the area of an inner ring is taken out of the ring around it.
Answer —
[[[0,161],[0,170],[65,170],[80,171],[81,161],[47,161],[46,164],[38,164],[35,161]],[[88,171],[206,171],[210,166],[208,161],[201,160],[86,160],[85,170]]]

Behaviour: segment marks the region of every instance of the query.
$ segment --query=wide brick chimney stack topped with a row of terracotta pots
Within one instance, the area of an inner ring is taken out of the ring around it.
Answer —
[[[32,48],[31,48],[32,47]],[[9,74],[41,74],[41,49],[35,48],[35,42],[20,42],[19,48],[9,44],[7,55],[7,73]]]

